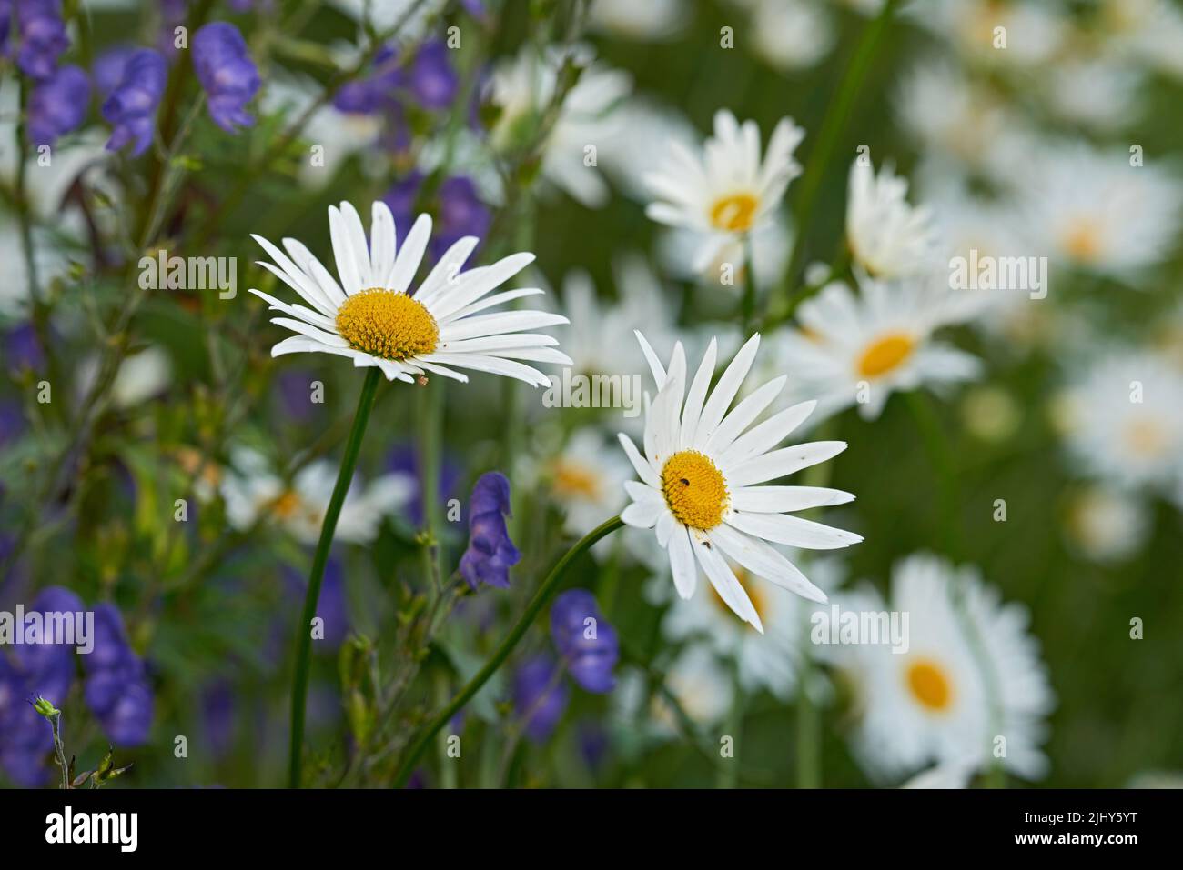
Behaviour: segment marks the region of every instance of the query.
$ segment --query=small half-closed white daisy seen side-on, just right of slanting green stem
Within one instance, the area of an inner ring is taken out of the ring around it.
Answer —
[[[909,204],[907,178],[891,165],[875,175],[862,155],[851,164],[846,241],[855,261],[877,278],[922,274],[938,262],[931,215]]]

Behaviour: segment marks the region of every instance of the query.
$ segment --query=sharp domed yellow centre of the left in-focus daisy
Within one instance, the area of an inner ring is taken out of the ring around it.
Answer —
[[[440,338],[435,318],[422,303],[381,287],[345,299],[337,310],[337,333],[354,350],[381,359],[431,353]]]

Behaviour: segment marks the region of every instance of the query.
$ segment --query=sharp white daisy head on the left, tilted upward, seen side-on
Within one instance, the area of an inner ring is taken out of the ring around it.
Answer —
[[[384,202],[375,202],[370,240],[356,209],[342,202],[329,206],[332,254],[341,283],[304,245],[284,239],[280,251],[253,236],[274,264],[259,262],[306,303],[287,304],[251,290],[289,317],[272,318],[296,336],[271,349],[284,353],[335,353],[357,368],[376,365],[388,379],[413,383],[426,374],[467,382],[457,369],[471,369],[525,381],[534,387],[549,381],[526,362],[570,365],[555,350],[558,339],[524,330],[567,323],[544,311],[490,309],[543,291],[536,287],[489,296],[530,262],[534,254],[511,254],[491,266],[461,271],[479,244],[476,236],[457,241],[411,291],[432,232],[432,219],[419,215],[396,248],[394,218]],[[519,362],[524,361],[524,362]]]

